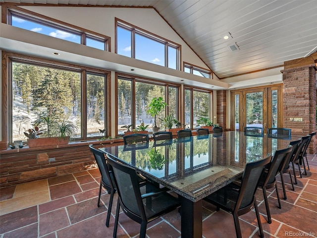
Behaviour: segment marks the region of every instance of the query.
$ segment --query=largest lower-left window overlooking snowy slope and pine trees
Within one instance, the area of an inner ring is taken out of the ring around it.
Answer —
[[[107,135],[106,71],[22,58],[9,60],[9,142],[26,141],[24,132],[43,118],[71,122],[76,127],[74,139]]]

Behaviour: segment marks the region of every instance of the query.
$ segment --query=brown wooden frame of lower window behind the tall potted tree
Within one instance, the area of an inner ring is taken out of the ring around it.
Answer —
[[[164,86],[164,91],[165,91],[165,98],[164,98],[164,102],[168,102],[168,88],[169,87],[174,87],[176,88],[176,100],[177,100],[177,107],[176,107],[176,117],[178,120],[181,119],[181,112],[180,112],[180,108],[178,105],[180,105],[180,90],[181,90],[181,85],[180,84],[176,84],[176,83],[170,83],[170,82],[165,82],[165,81],[160,81],[160,80],[155,80],[155,79],[149,79],[149,78],[144,78],[144,77],[135,77],[133,75],[129,75],[129,74],[123,74],[123,73],[115,73],[115,135],[116,136],[120,136],[119,135],[119,128],[118,128],[118,116],[119,116],[119,112],[118,112],[118,79],[123,79],[123,80],[129,80],[131,81],[131,109],[133,109],[133,111],[131,112],[131,124],[136,124],[135,123],[135,98],[136,98],[136,94],[135,94],[135,83],[136,82],[141,82],[141,83],[148,83],[148,84],[155,84],[155,85],[159,85],[159,86]],[[168,115],[168,107],[165,107],[164,109],[165,111],[165,116]],[[134,127],[133,127],[134,128]]]

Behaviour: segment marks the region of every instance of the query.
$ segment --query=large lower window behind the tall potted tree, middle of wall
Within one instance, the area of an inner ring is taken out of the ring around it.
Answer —
[[[123,134],[127,129],[137,128],[141,123],[148,125],[147,130],[152,130],[154,118],[146,112],[154,97],[162,97],[164,102],[168,104],[168,107],[158,115],[157,124],[160,119],[165,117],[166,113],[177,119],[176,86],[119,76],[117,77],[117,87],[117,128],[119,135]],[[165,94],[166,90],[168,91],[167,95]],[[164,128],[161,126],[161,129]]]

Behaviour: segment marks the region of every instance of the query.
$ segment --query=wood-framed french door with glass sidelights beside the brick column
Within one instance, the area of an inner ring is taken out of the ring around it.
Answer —
[[[282,84],[231,91],[231,130],[282,127]]]

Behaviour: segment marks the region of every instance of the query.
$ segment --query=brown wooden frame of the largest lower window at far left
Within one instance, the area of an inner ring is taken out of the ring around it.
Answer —
[[[61,70],[77,71],[81,73],[81,126],[80,137],[74,138],[75,141],[92,140],[102,138],[103,136],[87,136],[87,78],[86,75],[98,74],[105,76],[105,136],[111,135],[110,124],[110,88],[111,88],[111,72],[104,69],[92,68],[77,64],[69,64],[64,62],[57,62],[53,60],[46,60],[36,57],[29,57],[25,55],[9,53],[2,51],[2,139],[8,140],[12,143],[12,63],[27,63],[41,67],[50,67]]]

